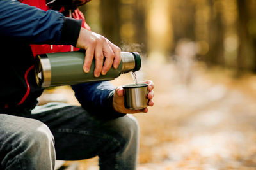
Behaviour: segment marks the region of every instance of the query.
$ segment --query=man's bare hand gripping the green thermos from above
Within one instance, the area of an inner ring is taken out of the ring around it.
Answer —
[[[100,73],[105,75],[112,66],[116,69],[120,64],[120,48],[104,38],[104,36],[100,36],[83,27],[80,30],[76,47],[86,50],[83,66],[85,73],[90,71],[92,60],[95,58],[95,77],[100,76]]]

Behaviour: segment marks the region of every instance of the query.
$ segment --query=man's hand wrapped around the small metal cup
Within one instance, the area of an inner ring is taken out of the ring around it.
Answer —
[[[148,84],[148,106],[153,106],[153,97],[154,97],[154,83],[150,80],[143,81],[140,83],[147,83]],[[113,108],[119,113],[140,113],[148,112],[148,108],[144,108],[141,110],[128,110],[124,107],[124,89],[122,87],[117,87],[113,96]]]

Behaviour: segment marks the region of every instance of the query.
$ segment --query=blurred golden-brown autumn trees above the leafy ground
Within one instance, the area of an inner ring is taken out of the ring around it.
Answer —
[[[93,31],[119,46],[141,45],[153,60],[170,60],[191,41],[208,66],[256,70],[255,0],[93,0],[82,11]]]

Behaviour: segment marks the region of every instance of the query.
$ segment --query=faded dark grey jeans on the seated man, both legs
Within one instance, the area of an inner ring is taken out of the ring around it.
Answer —
[[[95,156],[100,169],[136,169],[138,135],[131,115],[101,118],[60,103],[8,111],[0,114],[0,169],[49,170],[56,159]]]

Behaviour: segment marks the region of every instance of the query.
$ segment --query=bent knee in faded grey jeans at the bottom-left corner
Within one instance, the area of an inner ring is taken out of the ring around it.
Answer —
[[[0,113],[0,169],[51,168],[55,159],[53,143],[51,131],[42,122]],[[38,160],[45,165],[38,164]]]

